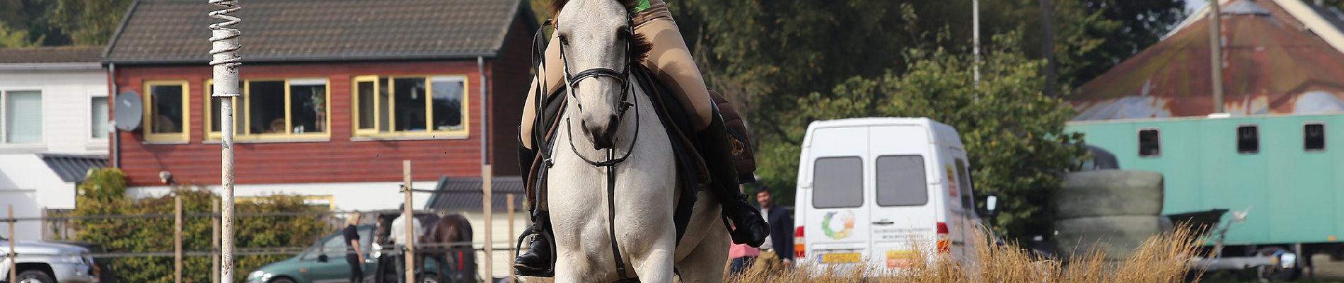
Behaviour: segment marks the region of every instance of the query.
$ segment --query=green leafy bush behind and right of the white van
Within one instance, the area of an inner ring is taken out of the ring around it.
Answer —
[[[1078,164],[1086,150],[1081,134],[1063,131],[1073,109],[1042,93],[1038,70],[1043,63],[1023,56],[1017,40],[1016,32],[995,36],[997,47],[985,52],[978,89],[970,56],[945,48],[909,50],[903,74],[855,76],[829,95],[812,93],[798,99],[808,107],[786,121],[800,125],[788,137],[801,139],[805,125],[817,119],[927,117],[948,123],[961,133],[976,193],[1000,197],[996,229],[1019,239],[1034,236],[1028,231],[1048,231],[1048,217],[1043,217],[1048,209],[1040,204],[1060,186],[1058,174]],[[767,158],[763,172],[796,178],[800,149],[770,149],[782,153],[762,154]]]

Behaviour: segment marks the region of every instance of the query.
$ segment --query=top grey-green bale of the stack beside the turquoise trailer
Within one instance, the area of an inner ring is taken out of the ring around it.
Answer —
[[[1163,212],[1163,174],[1145,170],[1091,170],[1064,176],[1055,193],[1058,219]]]

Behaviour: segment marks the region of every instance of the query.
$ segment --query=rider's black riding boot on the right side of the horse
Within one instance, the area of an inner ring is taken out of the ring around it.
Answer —
[[[723,118],[718,111],[714,121],[704,130],[696,133],[700,142],[700,156],[710,169],[710,178],[714,181],[710,190],[719,205],[723,207],[723,217],[732,223],[730,235],[732,243],[761,247],[765,237],[770,235],[770,225],[761,217],[761,211],[747,204],[747,197],[738,190],[738,173],[732,166],[732,145],[728,144],[728,129],[723,125]]]

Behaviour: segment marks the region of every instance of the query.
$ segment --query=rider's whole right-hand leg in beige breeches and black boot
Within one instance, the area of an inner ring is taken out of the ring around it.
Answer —
[[[659,17],[636,25],[634,32],[652,40],[653,48],[645,64],[653,70],[659,80],[668,86],[685,105],[687,111],[698,117],[695,129],[710,177],[712,192],[723,207],[723,216],[732,220],[732,241],[758,247],[765,243],[770,227],[761,217],[761,211],[747,204],[746,196],[738,190],[738,173],[732,165],[732,146],[723,118],[714,114],[714,101],[700,70],[695,67],[681,32],[672,17]]]

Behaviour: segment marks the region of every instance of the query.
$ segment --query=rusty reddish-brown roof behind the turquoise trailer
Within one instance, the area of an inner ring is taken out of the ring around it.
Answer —
[[[1344,111],[1344,54],[1301,21],[1281,19],[1288,13],[1271,0],[1228,5],[1236,9],[1222,16],[1227,113]],[[1212,113],[1208,32],[1208,20],[1193,21],[1085,83],[1068,97],[1079,110],[1074,119]]]

